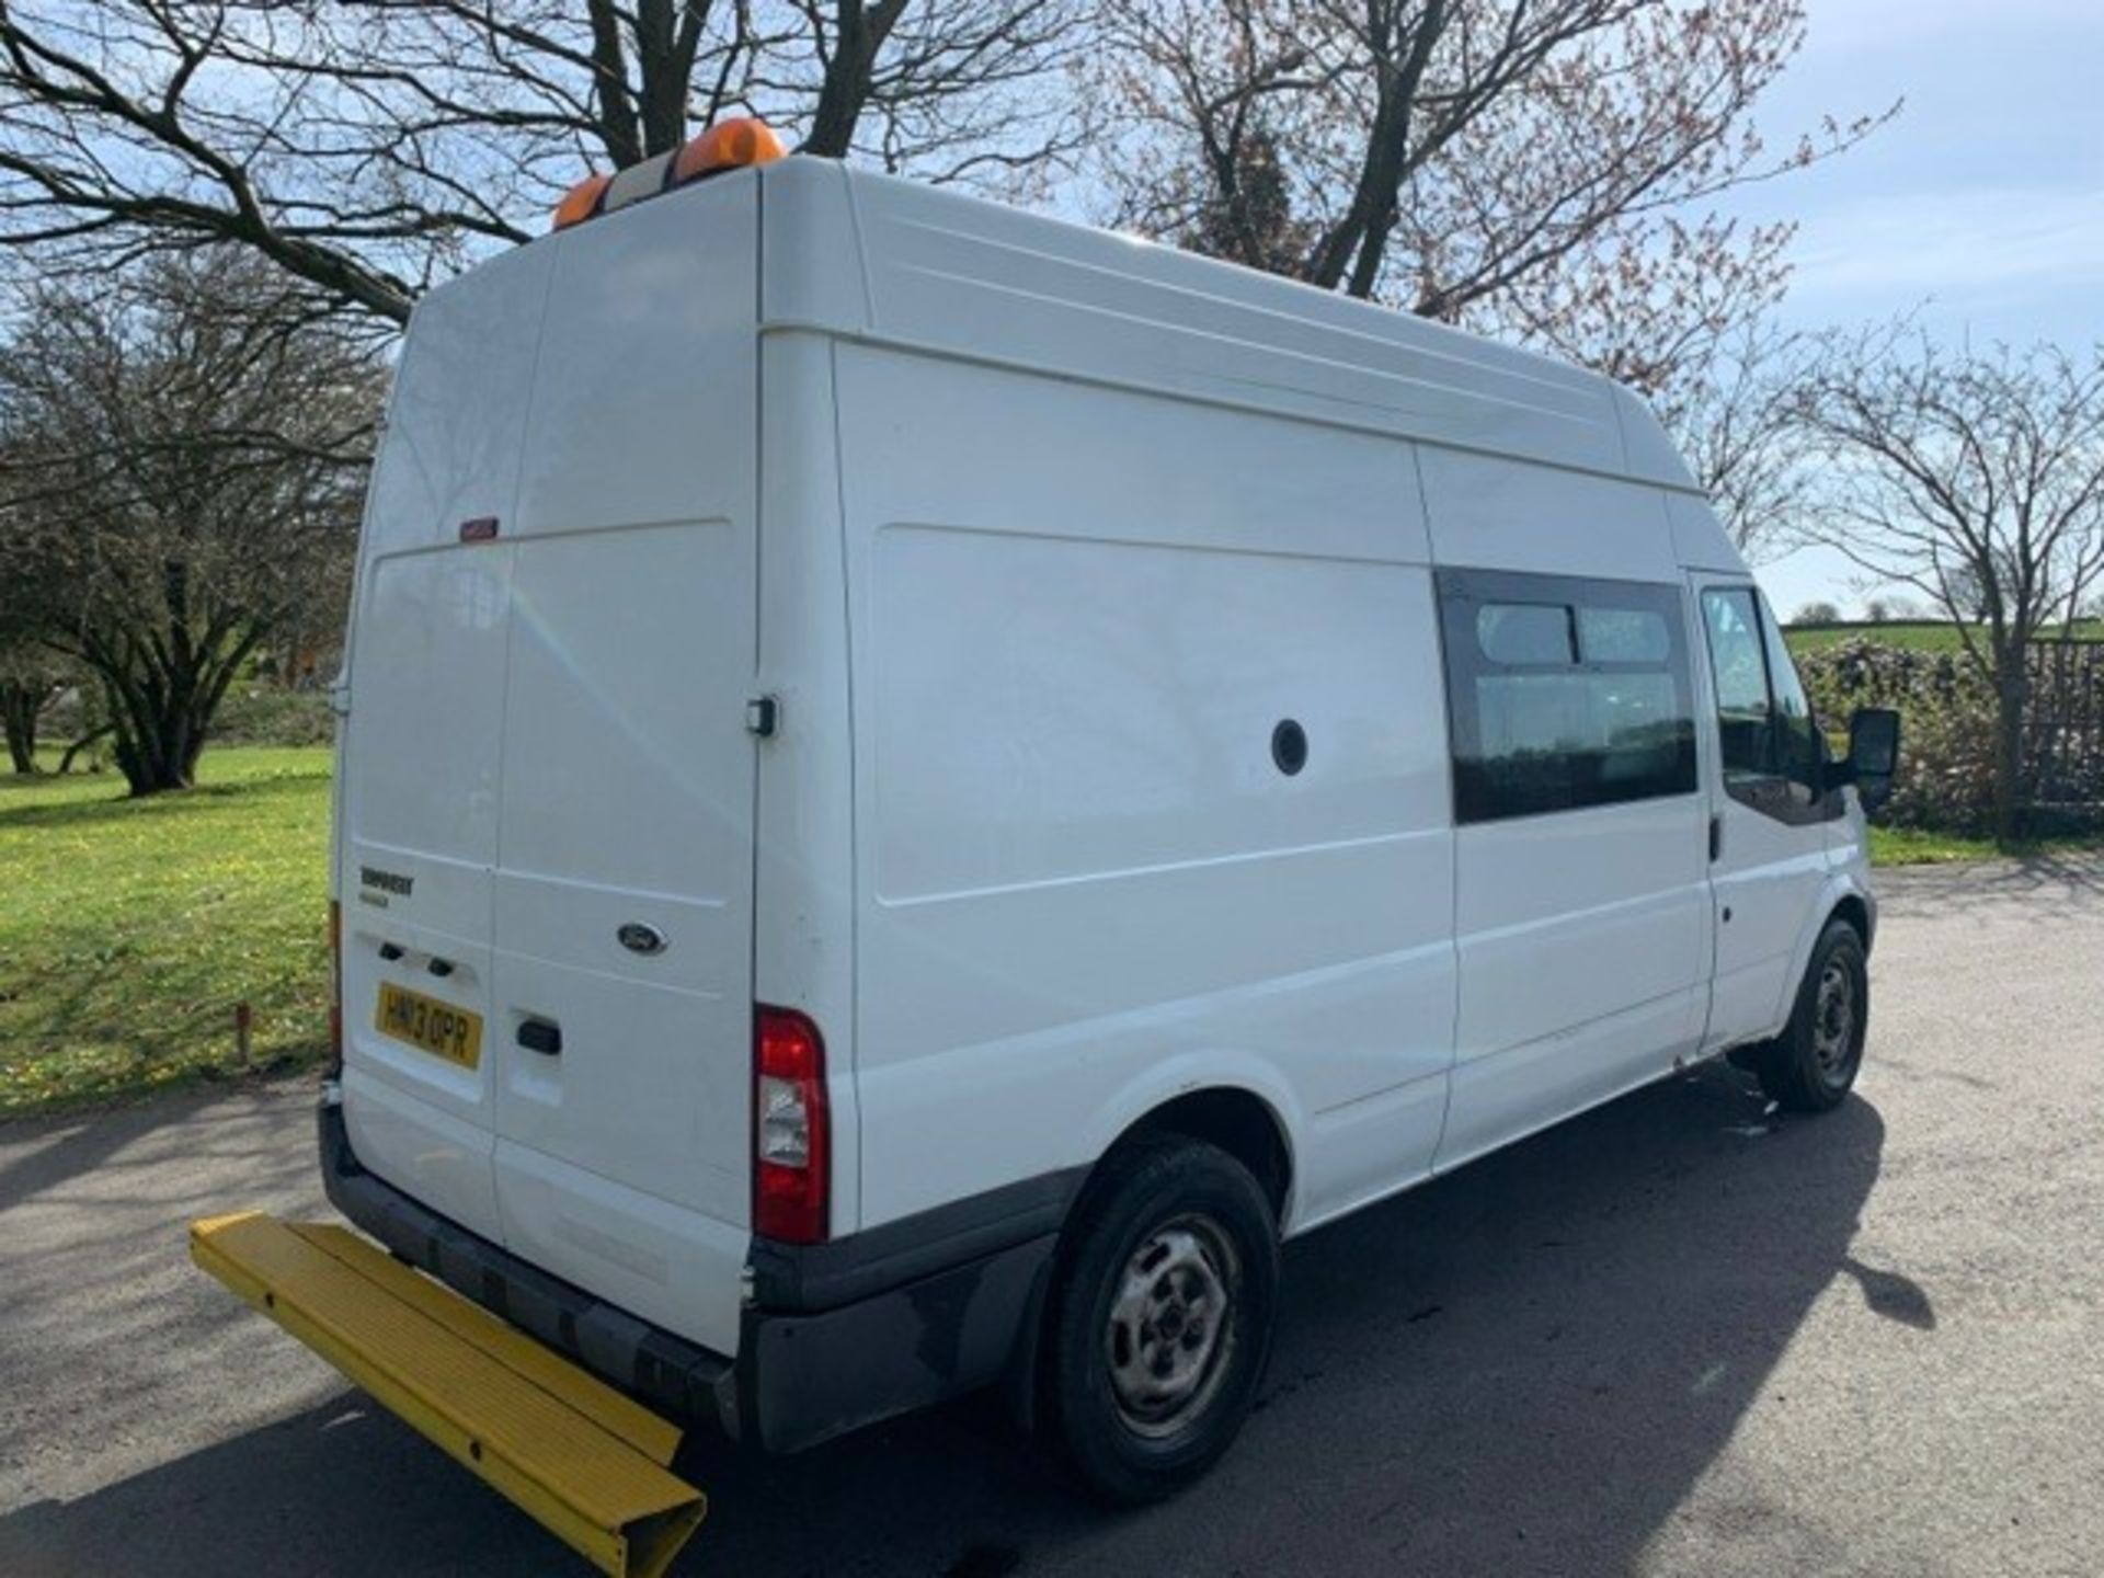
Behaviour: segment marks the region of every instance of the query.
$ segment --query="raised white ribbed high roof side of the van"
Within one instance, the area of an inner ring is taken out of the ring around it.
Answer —
[[[1698,490],[1641,398],[1532,351],[835,160],[787,158],[728,179],[760,181],[762,328],[816,328]]]

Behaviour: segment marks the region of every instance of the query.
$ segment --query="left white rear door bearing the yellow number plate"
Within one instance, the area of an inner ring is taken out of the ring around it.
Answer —
[[[387,1182],[490,1239],[490,871],[511,515],[553,259],[507,252],[433,290],[372,471],[337,797],[343,1113]]]

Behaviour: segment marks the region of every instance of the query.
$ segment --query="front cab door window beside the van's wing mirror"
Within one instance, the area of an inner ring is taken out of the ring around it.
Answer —
[[[1711,587],[1702,631],[1717,680],[1725,793],[1784,821],[1816,818],[1830,800],[1824,743],[1774,616],[1753,587]]]

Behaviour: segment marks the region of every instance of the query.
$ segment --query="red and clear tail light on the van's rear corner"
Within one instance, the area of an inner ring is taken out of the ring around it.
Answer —
[[[825,1037],[793,1008],[753,1010],[753,1231],[783,1243],[825,1239],[831,1132]]]

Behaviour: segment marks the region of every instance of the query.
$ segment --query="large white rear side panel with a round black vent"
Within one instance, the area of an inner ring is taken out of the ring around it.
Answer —
[[[1296,1216],[1422,1172],[1445,705],[1431,574],[1372,558],[1422,551],[1408,450],[846,347],[839,385],[865,1225],[1201,1084],[1382,1126],[1300,1159]]]

